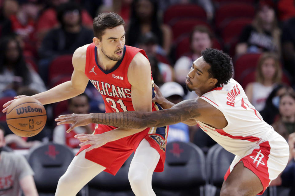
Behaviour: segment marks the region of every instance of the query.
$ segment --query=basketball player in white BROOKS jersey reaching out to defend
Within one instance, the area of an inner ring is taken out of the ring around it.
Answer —
[[[273,179],[284,170],[289,158],[289,146],[272,126],[265,123],[250,104],[241,85],[232,79],[231,58],[215,49],[202,51],[185,81],[187,89],[198,99],[172,104],[159,96],[163,108],[155,112],[128,111],[120,113],[62,115],[57,124],[73,127],[88,123],[126,128],[161,127],[192,121],[223,148],[235,154],[224,177],[220,195],[262,194]],[[158,92],[159,93],[159,92]],[[78,134],[81,145],[97,148],[112,141],[112,131],[104,135]]]

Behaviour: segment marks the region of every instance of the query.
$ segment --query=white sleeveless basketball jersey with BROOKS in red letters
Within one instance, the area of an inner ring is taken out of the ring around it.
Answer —
[[[227,120],[223,129],[215,129],[197,121],[200,128],[227,151],[243,155],[258,143],[267,141],[274,133],[272,126],[265,123],[246,96],[242,86],[230,81],[200,97],[220,110]]]

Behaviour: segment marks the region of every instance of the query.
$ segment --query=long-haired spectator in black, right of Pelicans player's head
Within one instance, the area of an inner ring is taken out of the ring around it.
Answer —
[[[126,41],[134,46],[140,36],[153,32],[158,37],[158,44],[166,54],[169,53],[172,32],[169,26],[161,24],[158,18],[158,3],[155,0],[134,0],[131,7],[130,25]]]

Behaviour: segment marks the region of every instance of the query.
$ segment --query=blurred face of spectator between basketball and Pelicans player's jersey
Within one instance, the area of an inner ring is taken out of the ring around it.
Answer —
[[[71,99],[69,111],[75,114],[87,114],[89,111],[89,103],[86,96],[76,96]]]

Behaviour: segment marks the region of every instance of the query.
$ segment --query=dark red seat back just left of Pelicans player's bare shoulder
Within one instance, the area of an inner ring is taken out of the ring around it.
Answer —
[[[73,73],[72,55],[62,55],[55,58],[49,65],[48,80],[50,81],[56,76],[70,76]]]

